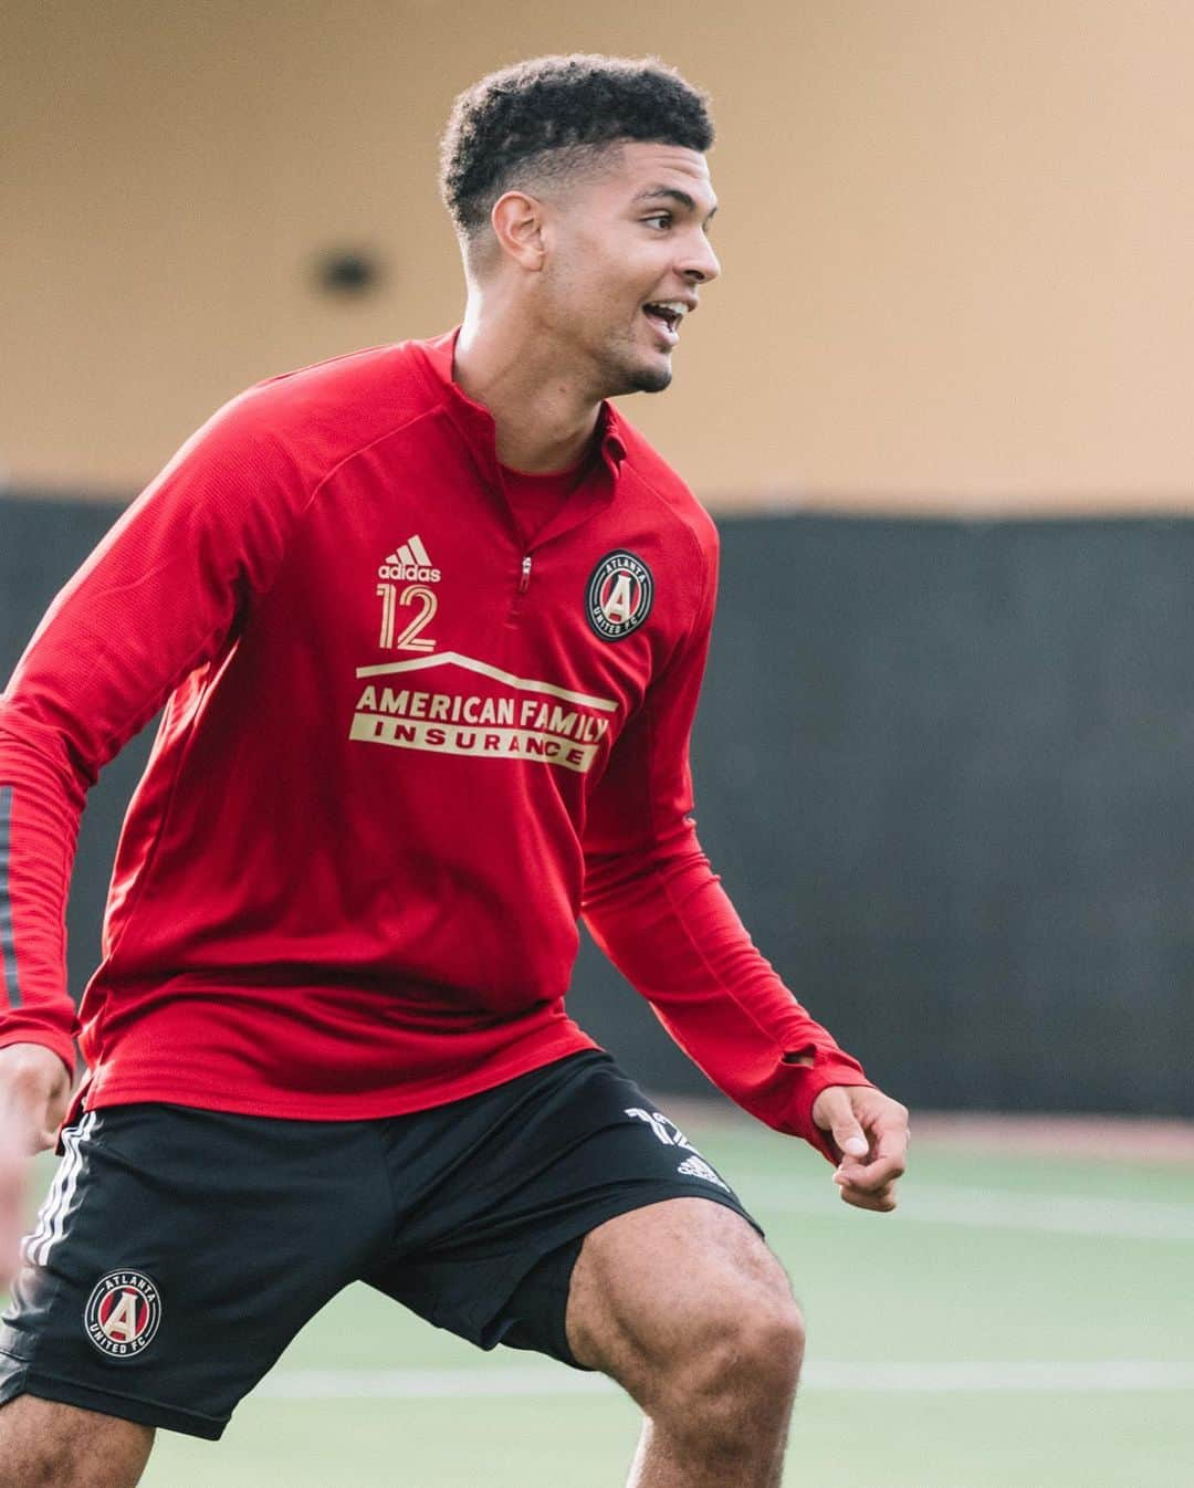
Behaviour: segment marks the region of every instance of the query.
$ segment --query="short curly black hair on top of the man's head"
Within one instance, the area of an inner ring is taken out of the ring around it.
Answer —
[[[469,237],[505,190],[582,167],[594,147],[618,140],[704,153],[713,143],[709,98],[654,57],[573,52],[515,62],[456,100],[439,156],[444,204]]]

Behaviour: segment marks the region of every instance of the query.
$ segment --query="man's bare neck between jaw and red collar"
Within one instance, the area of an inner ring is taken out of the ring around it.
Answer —
[[[600,400],[582,391],[575,369],[512,307],[469,296],[453,376],[493,414],[502,464],[533,475],[570,470],[584,458]]]

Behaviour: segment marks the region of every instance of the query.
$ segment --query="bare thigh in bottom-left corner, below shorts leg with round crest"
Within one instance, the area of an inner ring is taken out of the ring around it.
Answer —
[[[4,1488],[134,1488],[153,1428],[57,1400],[18,1396],[0,1406]]]

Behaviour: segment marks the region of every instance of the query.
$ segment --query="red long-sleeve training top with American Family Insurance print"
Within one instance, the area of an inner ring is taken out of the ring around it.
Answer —
[[[593,1046],[584,912],[710,1079],[832,1156],[813,1100],[866,1079],[688,817],[713,524],[606,406],[526,539],[453,347],[235,397],[54,601],[0,705],[0,1045],[77,1031],[91,1107],[420,1110]],[[76,1019],[85,795],[162,704]]]

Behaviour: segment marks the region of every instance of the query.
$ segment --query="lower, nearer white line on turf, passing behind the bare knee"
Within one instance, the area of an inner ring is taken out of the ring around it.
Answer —
[[[855,1394],[957,1394],[1024,1390],[1084,1394],[1194,1390],[1194,1363],[1149,1360],[1033,1363],[810,1363],[801,1390]],[[570,1369],[278,1369],[264,1400],[451,1400],[497,1396],[616,1394],[603,1375]]]

